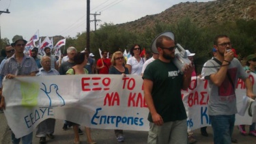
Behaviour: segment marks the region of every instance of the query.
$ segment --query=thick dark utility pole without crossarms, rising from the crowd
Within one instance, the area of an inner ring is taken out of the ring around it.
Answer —
[[[86,28],[86,48],[90,53],[90,1],[87,0],[87,28]]]

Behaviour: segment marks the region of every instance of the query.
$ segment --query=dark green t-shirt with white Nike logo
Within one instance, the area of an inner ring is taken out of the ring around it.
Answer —
[[[181,93],[182,77],[173,62],[165,63],[157,59],[145,69],[143,79],[153,81],[154,106],[164,122],[186,119]],[[147,119],[153,122],[151,113]]]

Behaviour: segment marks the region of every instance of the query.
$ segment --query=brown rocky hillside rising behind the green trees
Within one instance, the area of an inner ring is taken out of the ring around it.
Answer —
[[[132,22],[117,25],[128,31],[143,31],[156,22],[177,23],[189,17],[199,27],[210,27],[216,23],[236,21],[240,18],[256,20],[256,0],[217,0],[208,2],[186,2],[173,5],[160,14],[147,15]]]

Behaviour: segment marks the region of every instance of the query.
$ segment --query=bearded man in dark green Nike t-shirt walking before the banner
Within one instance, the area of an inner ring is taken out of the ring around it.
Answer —
[[[150,109],[147,143],[185,144],[188,143],[187,117],[181,89],[188,88],[193,66],[185,65],[183,74],[178,70],[173,63],[174,35],[171,33],[173,38],[167,35],[163,33],[156,38],[152,51],[159,53],[159,59],[150,63],[143,74],[144,96]]]

